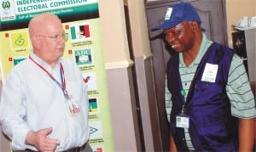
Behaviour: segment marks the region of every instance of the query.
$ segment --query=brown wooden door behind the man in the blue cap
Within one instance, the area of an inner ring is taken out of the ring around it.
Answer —
[[[166,46],[162,31],[150,31],[154,26],[163,22],[166,8],[180,0],[159,0],[145,2],[148,19],[148,32],[152,53],[154,54],[154,79],[157,94],[158,118],[160,119],[161,146],[163,150],[169,149],[169,128],[165,112],[165,75],[166,62],[172,54],[172,50]],[[201,27],[209,39],[227,45],[227,28],[224,0],[190,0],[200,14]]]

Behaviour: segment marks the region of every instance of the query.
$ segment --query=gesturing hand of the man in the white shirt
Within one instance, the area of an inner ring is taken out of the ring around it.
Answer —
[[[28,132],[26,134],[26,144],[35,146],[39,151],[52,152],[60,144],[60,141],[48,138],[50,132],[52,132],[52,127],[41,129],[38,132]]]

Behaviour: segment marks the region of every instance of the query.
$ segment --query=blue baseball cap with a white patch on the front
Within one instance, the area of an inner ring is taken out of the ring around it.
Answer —
[[[151,29],[157,31],[160,29],[172,28],[183,21],[197,21],[201,24],[201,19],[196,9],[190,3],[176,3],[169,6],[166,10],[164,23]]]

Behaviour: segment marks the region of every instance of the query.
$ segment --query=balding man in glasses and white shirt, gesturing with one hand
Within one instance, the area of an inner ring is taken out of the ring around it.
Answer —
[[[32,53],[3,84],[3,132],[14,150],[84,150],[89,138],[87,90],[79,68],[62,57],[67,34],[61,20],[38,14],[28,31]]]

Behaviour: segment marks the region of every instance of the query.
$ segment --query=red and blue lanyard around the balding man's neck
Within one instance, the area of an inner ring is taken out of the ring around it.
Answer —
[[[65,80],[65,76],[64,76],[64,69],[63,69],[63,65],[60,63],[61,65],[61,69],[60,69],[60,73],[61,73],[61,83],[58,82],[54,76],[52,76],[49,71],[47,71],[46,69],[44,69],[44,67],[42,65],[39,65],[38,62],[36,62],[34,59],[31,58],[31,56],[29,56],[29,59],[31,59],[36,65],[38,65],[39,68],[41,68],[42,70],[44,70],[44,72],[51,78],[51,80],[53,80],[59,87],[61,87],[61,90],[65,96],[66,99],[68,99],[68,93],[66,90],[66,80]]]

